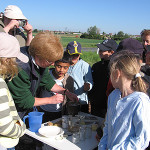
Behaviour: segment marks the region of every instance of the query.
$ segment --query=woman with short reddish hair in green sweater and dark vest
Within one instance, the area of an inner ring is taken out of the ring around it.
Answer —
[[[62,58],[63,51],[59,38],[51,32],[38,33],[30,46],[22,49],[29,62],[20,63],[22,70],[18,76],[7,82],[21,118],[31,111],[33,106],[62,103],[64,95],[70,100],[78,100],[75,94],[58,86],[48,72],[48,67]],[[59,94],[38,98],[39,86]]]

